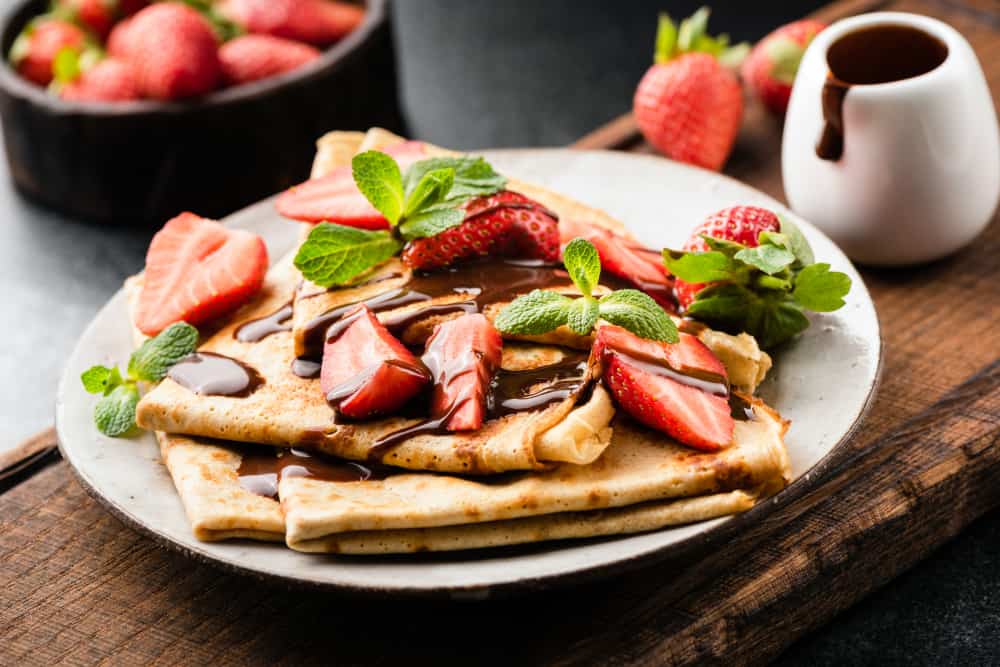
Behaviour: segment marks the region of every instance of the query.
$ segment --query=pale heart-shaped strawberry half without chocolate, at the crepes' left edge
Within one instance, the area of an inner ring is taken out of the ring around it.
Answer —
[[[266,272],[259,236],[181,213],[149,244],[135,325],[148,336],[181,320],[198,326],[242,305]]]

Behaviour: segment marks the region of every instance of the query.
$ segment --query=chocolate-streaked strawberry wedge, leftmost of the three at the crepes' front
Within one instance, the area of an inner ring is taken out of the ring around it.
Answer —
[[[429,381],[420,360],[367,306],[345,315],[327,334],[320,386],[327,401],[346,417],[391,414]]]

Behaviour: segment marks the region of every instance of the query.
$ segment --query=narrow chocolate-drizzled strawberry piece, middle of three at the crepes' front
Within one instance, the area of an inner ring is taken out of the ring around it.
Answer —
[[[446,418],[449,431],[483,425],[486,395],[500,367],[503,340],[480,314],[463,315],[437,326],[423,360],[434,377],[431,416]]]

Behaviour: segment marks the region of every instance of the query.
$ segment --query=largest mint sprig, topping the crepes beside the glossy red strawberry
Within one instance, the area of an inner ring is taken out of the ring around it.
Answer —
[[[361,194],[389,221],[389,230],[365,230],[323,222],[295,256],[302,275],[333,287],[384,262],[414,239],[436,236],[462,224],[465,202],[494,194],[507,179],[481,157],[421,160],[402,172],[392,156],[366,151],[351,160]]]

